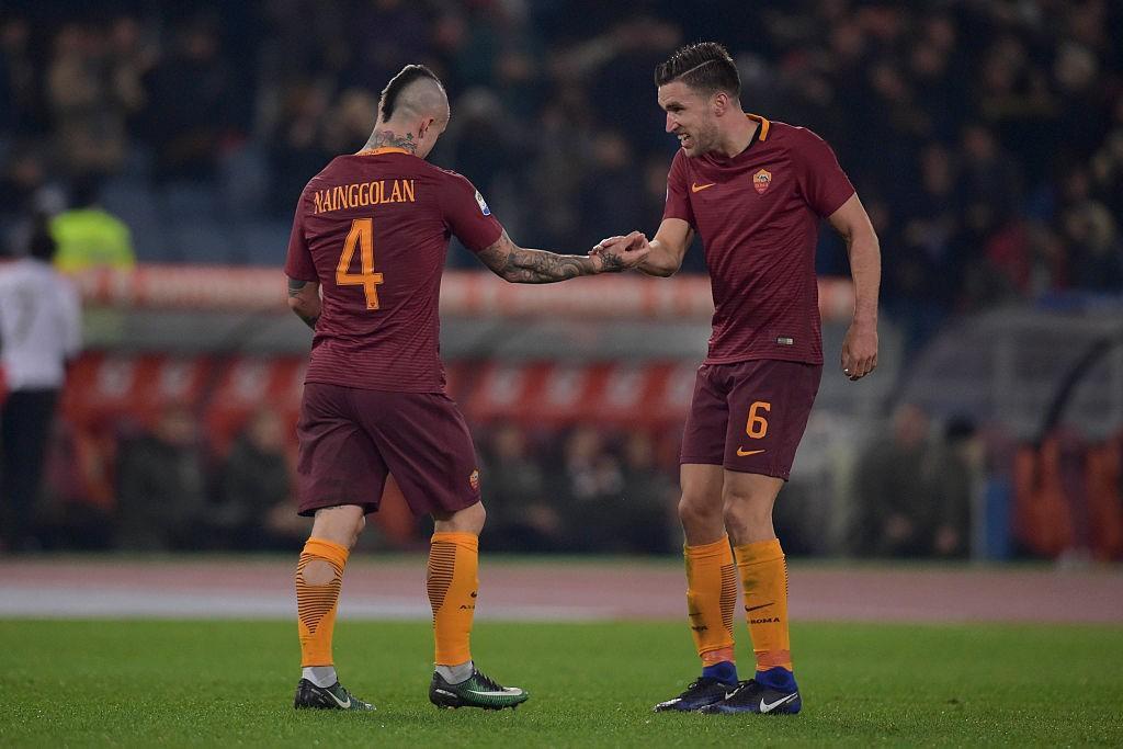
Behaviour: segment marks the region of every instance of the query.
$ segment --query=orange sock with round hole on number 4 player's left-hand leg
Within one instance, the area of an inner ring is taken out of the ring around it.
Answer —
[[[301,666],[330,666],[339,587],[347,547],[319,538],[304,544],[296,564],[296,614]]]

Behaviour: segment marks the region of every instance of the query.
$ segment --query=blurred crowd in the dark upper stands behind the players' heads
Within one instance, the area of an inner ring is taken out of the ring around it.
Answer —
[[[0,225],[92,180],[141,261],[280,263],[305,181],[424,62],[453,101],[433,161],[520,241],[581,252],[657,226],[675,143],[652,70],[699,38],[730,48],[748,110],[834,146],[915,340],[958,311],[1123,290],[1123,9],[1106,0],[7,3]],[[844,273],[837,240],[819,263]]]

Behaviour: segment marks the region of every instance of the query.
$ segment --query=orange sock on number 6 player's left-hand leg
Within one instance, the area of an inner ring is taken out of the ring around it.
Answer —
[[[684,548],[686,611],[694,647],[703,666],[733,663],[733,610],[737,608],[737,569],[729,537]]]

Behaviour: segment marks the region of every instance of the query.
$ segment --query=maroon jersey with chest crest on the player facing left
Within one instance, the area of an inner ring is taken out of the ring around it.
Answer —
[[[823,363],[815,280],[819,221],[853,194],[831,147],[811,130],[759,122],[728,158],[675,154],[663,217],[702,237],[713,290],[706,364]]]

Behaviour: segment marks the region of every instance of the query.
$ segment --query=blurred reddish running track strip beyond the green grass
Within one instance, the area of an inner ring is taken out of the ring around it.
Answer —
[[[672,563],[484,558],[487,619],[679,619]],[[0,619],[287,618],[292,560],[275,558],[0,559]],[[1123,623],[1123,568],[910,567],[793,564],[791,614],[803,621]],[[340,618],[429,619],[421,556],[358,556]]]

